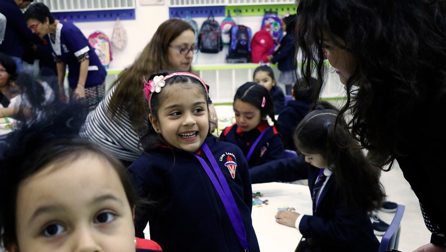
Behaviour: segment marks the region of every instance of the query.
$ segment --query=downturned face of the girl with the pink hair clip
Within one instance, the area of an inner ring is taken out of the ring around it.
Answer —
[[[260,109],[240,99],[234,101],[234,114],[235,123],[245,132],[259,126],[262,120]]]

